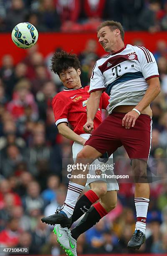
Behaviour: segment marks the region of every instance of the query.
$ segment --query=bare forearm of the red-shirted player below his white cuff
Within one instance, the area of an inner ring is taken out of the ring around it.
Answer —
[[[78,134],[74,133],[66,123],[60,123],[58,124],[58,132],[65,138],[68,138],[71,141],[75,141],[81,145],[84,145],[86,142],[86,139],[82,138]]]

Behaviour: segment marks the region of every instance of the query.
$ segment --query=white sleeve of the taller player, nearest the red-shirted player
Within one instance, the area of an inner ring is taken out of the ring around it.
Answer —
[[[96,61],[94,68],[92,70],[89,93],[98,91],[98,90],[105,91],[106,87],[105,87],[104,76],[101,73]]]

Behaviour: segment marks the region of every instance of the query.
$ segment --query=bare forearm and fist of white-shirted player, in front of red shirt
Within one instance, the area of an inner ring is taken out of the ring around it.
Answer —
[[[86,133],[91,133],[94,130],[94,117],[99,108],[100,97],[102,90],[91,92],[91,95],[88,99],[86,110],[87,110],[87,122],[83,125],[83,130]]]

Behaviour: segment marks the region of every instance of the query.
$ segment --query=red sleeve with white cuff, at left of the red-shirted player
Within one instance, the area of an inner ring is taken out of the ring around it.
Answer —
[[[60,123],[68,123],[68,104],[65,104],[65,101],[53,98],[52,108],[55,117],[56,125]]]

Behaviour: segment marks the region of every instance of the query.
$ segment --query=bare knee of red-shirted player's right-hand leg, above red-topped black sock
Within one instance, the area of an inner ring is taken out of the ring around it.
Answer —
[[[107,191],[106,195],[100,198],[101,205],[109,212],[116,207],[117,192],[116,190]]]

